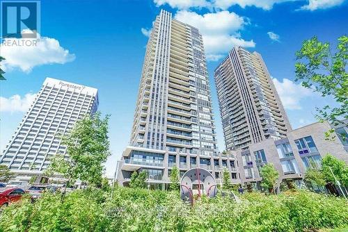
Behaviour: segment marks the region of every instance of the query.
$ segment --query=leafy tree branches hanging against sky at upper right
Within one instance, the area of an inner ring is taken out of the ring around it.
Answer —
[[[336,52],[332,53],[329,42],[320,42],[317,37],[305,40],[296,52],[296,80],[301,81],[305,88],[310,88],[322,94],[322,97],[332,96],[338,106],[317,108],[318,119],[327,120],[333,124],[344,124],[342,119],[348,119],[348,37],[338,38]],[[333,133],[333,130],[330,131]]]

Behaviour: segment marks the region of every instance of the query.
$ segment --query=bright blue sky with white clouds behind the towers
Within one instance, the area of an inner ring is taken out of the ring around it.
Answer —
[[[293,82],[294,53],[313,35],[335,44],[347,34],[347,5],[344,0],[42,0],[38,49],[0,47],[8,58],[7,81],[0,83],[1,151],[45,78],[58,78],[99,90],[99,109],[111,114],[113,155],[106,163],[111,176],[129,142],[146,34],[161,8],[203,33],[220,150],[213,71],[234,45],[262,54],[294,128],[315,122],[315,107],[333,101]]]

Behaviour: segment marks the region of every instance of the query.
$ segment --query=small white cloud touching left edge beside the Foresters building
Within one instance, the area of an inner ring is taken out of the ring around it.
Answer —
[[[1,112],[26,112],[29,109],[31,103],[33,103],[36,94],[27,93],[22,98],[18,94],[12,97],[0,97],[0,111]]]

